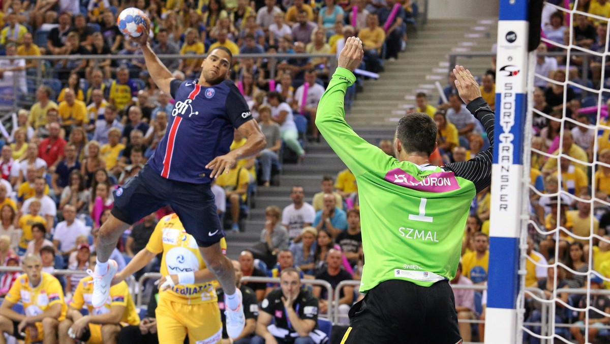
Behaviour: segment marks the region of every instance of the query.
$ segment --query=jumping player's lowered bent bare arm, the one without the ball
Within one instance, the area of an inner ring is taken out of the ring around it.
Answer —
[[[267,140],[265,135],[260,131],[259,125],[255,120],[248,120],[237,128],[243,137],[246,137],[246,144],[242,147],[235,148],[225,155],[217,156],[209,164],[206,169],[212,169],[210,178],[216,178],[224,173],[229,173],[229,169],[237,160],[248,159],[256,156],[265,146]]]

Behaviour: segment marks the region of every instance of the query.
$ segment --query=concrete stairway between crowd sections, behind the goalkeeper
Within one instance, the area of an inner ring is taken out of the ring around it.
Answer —
[[[419,90],[429,94],[431,104],[439,97],[434,81],[447,84],[448,54],[451,51],[490,51],[495,42],[497,20],[429,20],[407,42],[407,48],[396,61],[386,61],[386,71],[379,80],[367,80],[365,91],[357,94],[351,113],[346,116],[354,130],[377,144],[380,139],[391,139],[398,119],[404,115],[405,106],[415,103]],[[490,59],[458,59],[475,75],[483,75]],[[285,164],[281,174],[281,186],[262,188],[256,195],[256,207],[250,210],[243,233],[228,232],[228,256],[237,258],[239,252],[260,240],[265,224],[265,207],[277,205],[280,209],[289,205],[292,186],[303,186],[306,202],[311,202],[320,191],[323,175],[336,177],[345,165],[332,152],[325,141],[307,144],[306,158],[300,164]],[[365,158],[365,157],[362,157]]]

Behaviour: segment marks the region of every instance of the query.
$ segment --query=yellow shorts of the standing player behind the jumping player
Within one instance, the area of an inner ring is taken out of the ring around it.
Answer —
[[[223,324],[217,302],[188,305],[159,298],[155,313],[159,343],[182,344],[187,334],[192,344],[222,342]]]

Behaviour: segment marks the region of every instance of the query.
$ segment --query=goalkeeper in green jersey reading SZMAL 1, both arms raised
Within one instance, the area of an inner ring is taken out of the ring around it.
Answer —
[[[460,343],[449,286],[458,268],[464,225],[476,192],[489,186],[494,114],[470,71],[456,66],[456,87],[492,143],[475,158],[433,166],[436,123],[421,112],[399,122],[397,158],[359,137],[345,122],[345,90],[356,80],[362,42],[350,37],[315,120],[326,141],[356,176],[366,263],[342,343]]]

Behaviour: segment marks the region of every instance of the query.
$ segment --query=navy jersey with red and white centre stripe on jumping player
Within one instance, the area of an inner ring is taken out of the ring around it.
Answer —
[[[229,152],[234,128],[253,119],[248,104],[230,80],[205,87],[174,79],[170,89],[174,110],[148,164],[164,178],[210,183],[206,165]]]

